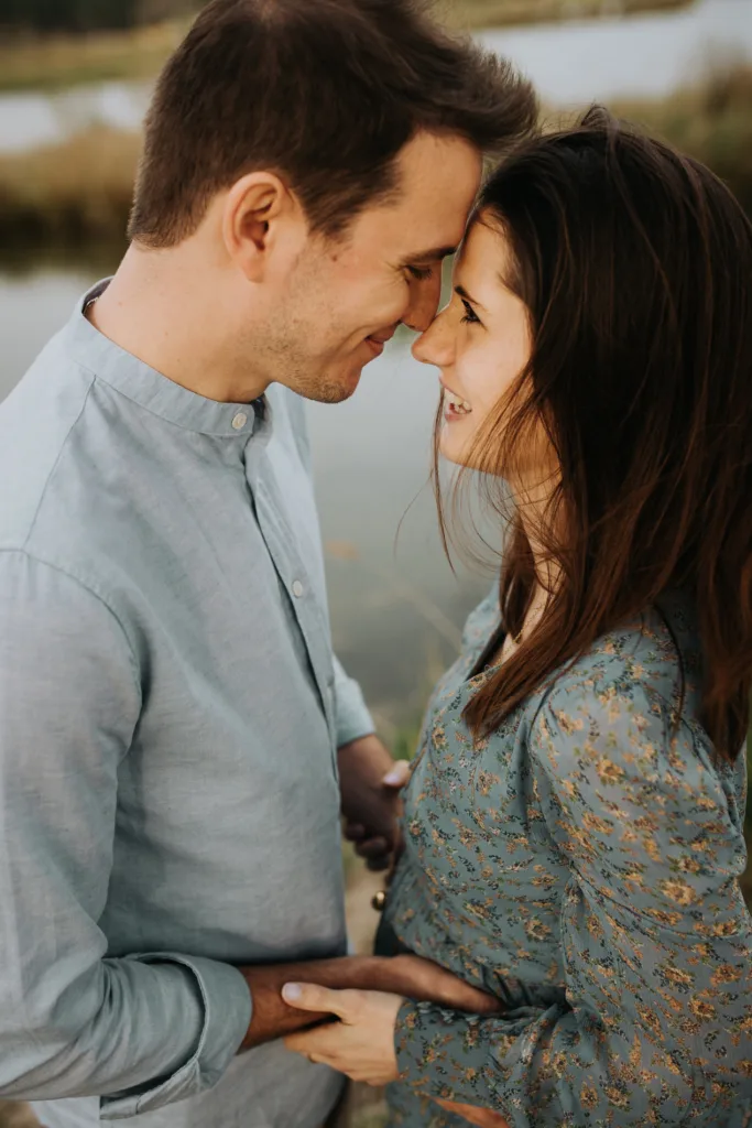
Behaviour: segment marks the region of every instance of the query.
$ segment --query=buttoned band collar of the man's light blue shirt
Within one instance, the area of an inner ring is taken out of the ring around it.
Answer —
[[[104,293],[109,281],[97,282],[79,299],[68,324],[68,346],[79,364],[133,403],[186,431],[219,439],[248,440],[255,430],[263,429],[268,411],[258,411],[253,404],[218,403],[189,391],[95,328],[83,311],[92,299]],[[260,404],[263,408],[264,402]]]

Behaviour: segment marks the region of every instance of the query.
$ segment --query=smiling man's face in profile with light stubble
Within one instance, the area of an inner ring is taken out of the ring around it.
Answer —
[[[467,141],[419,134],[399,155],[392,202],[366,209],[338,240],[311,236],[265,327],[271,379],[339,403],[400,321],[427,328],[441,261],[462,238],[480,171]]]

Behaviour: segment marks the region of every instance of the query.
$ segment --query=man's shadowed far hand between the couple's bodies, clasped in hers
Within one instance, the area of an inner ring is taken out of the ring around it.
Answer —
[[[392,760],[377,735],[361,737],[337,752],[345,838],[370,870],[386,870],[400,853],[399,792],[409,778],[406,760]]]

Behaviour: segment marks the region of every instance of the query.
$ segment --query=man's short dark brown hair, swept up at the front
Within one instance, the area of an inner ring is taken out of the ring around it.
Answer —
[[[398,188],[418,131],[498,151],[536,117],[530,83],[419,0],[212,0],[159,79],[129,233],[174,246],[218,192],[272,169],[336,235]]]

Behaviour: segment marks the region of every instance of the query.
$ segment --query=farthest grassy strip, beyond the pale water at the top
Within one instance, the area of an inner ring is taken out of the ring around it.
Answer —
[[[691,0],[437,0],[446,21],[463,28],[622,15],[680,8],[689,2]],[[0,46],[0,90],[54,89],[108,79],[150,78],[187,26],[187,20],[170,20],[130,32],[6,37],[7,42]]]

